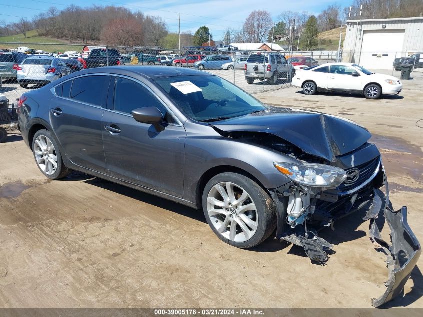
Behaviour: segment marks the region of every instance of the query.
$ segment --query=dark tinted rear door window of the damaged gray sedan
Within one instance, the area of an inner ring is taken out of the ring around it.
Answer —
[[[75,78],[70,97],[88,104],[106,107],[110,76],[93,75]]]

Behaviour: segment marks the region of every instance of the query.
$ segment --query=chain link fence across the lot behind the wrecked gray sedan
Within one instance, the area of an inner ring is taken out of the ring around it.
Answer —
[[[204,70],[255,94],[289,87],[298,69],[328,62],[353,62],[370,70],[400,77],[404,65],[410,70],[423,69],[423,56],[418,52],[412,53],[225,52],[210,48],[179,51],[147,47],[0,42],[0,93],[6,96],[11,107],[27,89],[37,89],[69,73],[108,65],[147,65]]]

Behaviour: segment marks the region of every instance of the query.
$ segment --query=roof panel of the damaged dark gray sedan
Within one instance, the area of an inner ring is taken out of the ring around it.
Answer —
[[[148,79],[154,79],[159,77],[173,77],[173,76],[185,76],[185,75],[211,75],[200,70],[195,70],[186,67],[174,67],[174,66],[105,66],[101,68],[89,68],[84,70],[85,74],[89,73],[115,73],[125,75],[138,74]]]

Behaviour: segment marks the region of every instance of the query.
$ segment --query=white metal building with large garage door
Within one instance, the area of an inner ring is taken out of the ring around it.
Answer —
[[[392,69],[395,58],[423,52],[423,17],[348,20],[342,61]]]

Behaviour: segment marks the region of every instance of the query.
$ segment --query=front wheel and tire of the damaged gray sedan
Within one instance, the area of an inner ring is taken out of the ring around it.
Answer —
[[[226,194],[231,203],[225,202],[221,193]],[[242,201],[236,203],[236,199]],[[210,179],[203,190],[202,205],[213,232],[222,241],[238,248],[260,244],[276,228],[275,203],[262,187],[241,174],[222,173]]]

